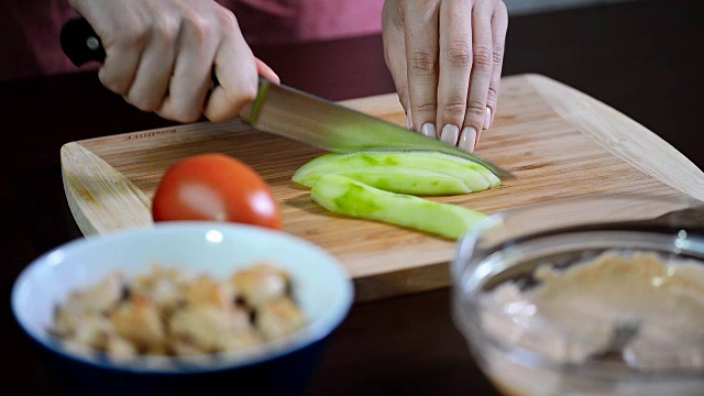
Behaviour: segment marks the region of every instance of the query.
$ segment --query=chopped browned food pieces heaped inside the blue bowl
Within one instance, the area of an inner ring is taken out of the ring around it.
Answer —
[[[226,279],[157,264],[132,279],[113,271],[58,305],[50,331],[110,359],[237,351],[302,328],[290,286],[266,263]]]

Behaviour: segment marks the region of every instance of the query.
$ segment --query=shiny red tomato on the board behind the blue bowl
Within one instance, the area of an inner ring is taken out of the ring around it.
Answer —
[[[169,167],[152,202],[154,221],[215,220],[282,229],[272,190],[244,163],[222,154],[202,154]]]

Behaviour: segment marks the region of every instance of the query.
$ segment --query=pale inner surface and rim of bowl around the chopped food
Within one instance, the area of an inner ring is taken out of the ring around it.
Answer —
[[[230,277],[257,262],[290,274],[296,301],[309,326],[242,353],[179,358],[199,370],[251,364],[311,343],[332,331],[346,316],[353,299],[352,282],[337,260],[322,249],[294,235],[262,228],[211,222],[170,222],[152,228],[88,237],[62,245],[32,262],[12,290],[12,309],[24,330],[38,342],[77,359],[105,364],[92,354],[74,355],[53,340],[47,329],[54,308],[75,290],[116,270],[128,278],[152,264]],[[127,370],[182,371],[174,359],[148,356],[117,364]]]

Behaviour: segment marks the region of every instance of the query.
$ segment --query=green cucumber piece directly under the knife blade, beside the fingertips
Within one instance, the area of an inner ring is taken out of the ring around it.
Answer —
[[[312,187],[330,174],[392,193],[426,196],[476,193],[501,185],[496,175],[473,161],[430,151],[324,154],[304,164],[292,179]]]

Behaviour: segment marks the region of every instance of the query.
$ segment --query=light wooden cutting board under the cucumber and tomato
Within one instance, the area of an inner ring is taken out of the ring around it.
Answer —
[[[395,94],[342,102],[405,123]],[[84,234],[150,227],[151,198],[166,168],[201,153],[240,158],[272,186],[284,230],[327,249],[355,280],[358,300],[449,285],[453,242],[380,222],[333,215],[290,182],[323,151],[252,130],[239,120],[197,123],[67,143],[62,169]],[[704,173],[671,145],[615,109],[540,75],[502,80],[498,112],[477,153],[517,178],[501,187],[430,199],[492,213],[516,206],[600,194],[692,196]]]

